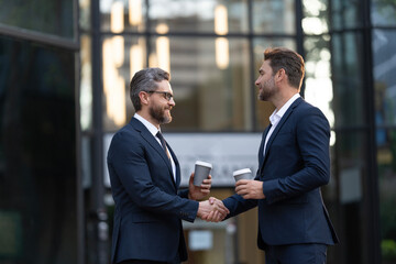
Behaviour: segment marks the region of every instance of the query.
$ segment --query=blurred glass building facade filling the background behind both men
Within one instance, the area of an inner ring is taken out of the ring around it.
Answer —
[[[232,195],[227,175],[256,166],[274,110],[254,87],[270,46],[304,56],[301,96],[331,124],[332,175],[322,193],[341,243],[328,263],[396,263],[395,1],[0,7],[0,263],[109,263],[106,152],[134,113],[129,82],[144,67],[172,76],[176,107],[163,131],[184,164],[183,185],[195,158],[206,157],[215,165],[212,196]],[[242,142],[238,155],[229,141]],[[188,263],[264,263],[256,213],[185,223]]]

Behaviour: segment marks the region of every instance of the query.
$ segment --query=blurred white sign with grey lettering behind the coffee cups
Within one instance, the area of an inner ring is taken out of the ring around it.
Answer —
[[[233,187],[232,172],[250,168],[255,176],[258,166],[261,133],[164,133],[180,164],[182,186],[188,186],[196,161],[212,164],[212,186]],[[112,134],[105,135],[105,157]],[[110,187],[105,158],[105,185]]]

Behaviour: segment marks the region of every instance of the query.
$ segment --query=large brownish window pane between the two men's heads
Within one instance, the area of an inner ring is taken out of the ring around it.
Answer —
[[[176,107],[168,131],[250,131],[249,43],[241,38],[172,37],[151,43],[150,66],[170,67]],[[166,62],[169,53],[170,61]],[[156,59],[155,59],[156,58]]]

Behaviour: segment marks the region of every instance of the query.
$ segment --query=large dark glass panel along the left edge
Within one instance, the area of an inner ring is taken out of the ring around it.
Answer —
[[[76,1],[0,1],[0,263],[82,263]]]

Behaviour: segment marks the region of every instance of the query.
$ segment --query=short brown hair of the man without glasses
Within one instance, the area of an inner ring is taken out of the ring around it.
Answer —
[[[264,61],[270,61],[270,66],[275,75],[280,68],[285,69],[289,85],[297,89],[304,78],[304,58],[298,53],[286,47],[266,48]]]

